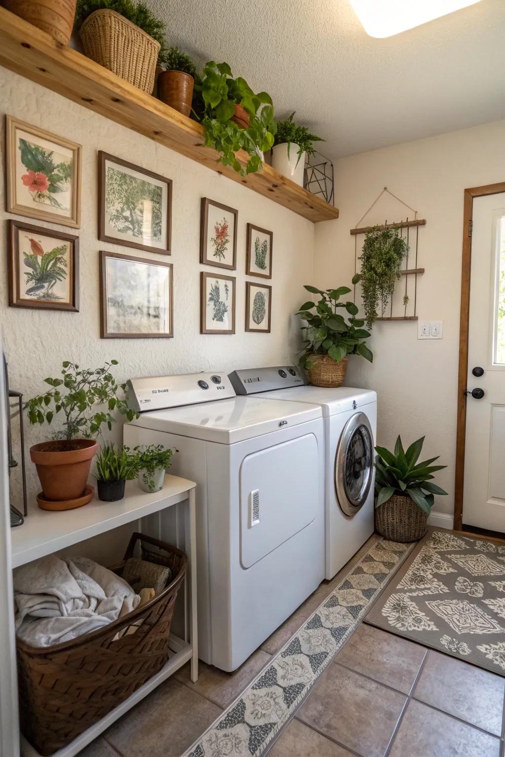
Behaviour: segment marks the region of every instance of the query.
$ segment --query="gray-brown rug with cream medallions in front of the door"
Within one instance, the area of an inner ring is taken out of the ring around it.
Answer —
[[[505,675],[505,545],[432,531],[365,621]]]

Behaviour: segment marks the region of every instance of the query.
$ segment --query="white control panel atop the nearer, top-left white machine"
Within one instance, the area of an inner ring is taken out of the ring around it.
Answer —
[[[226,373],[214,371],[130,378],[128,395],[133,410],[145,413],[147,410],[165,410],[168,407],[226,400],[235,397],[235,390]]]

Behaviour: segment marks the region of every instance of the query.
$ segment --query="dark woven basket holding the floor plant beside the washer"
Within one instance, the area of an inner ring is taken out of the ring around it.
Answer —
[[[426,534],[427,520],[427,512],[399,494],[376,507],[376,531],[391,541],[419,541]]]

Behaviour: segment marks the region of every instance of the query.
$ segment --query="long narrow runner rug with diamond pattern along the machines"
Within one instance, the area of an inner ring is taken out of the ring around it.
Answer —
[[[183,757],[263,754],[411,549],[377,541]]]

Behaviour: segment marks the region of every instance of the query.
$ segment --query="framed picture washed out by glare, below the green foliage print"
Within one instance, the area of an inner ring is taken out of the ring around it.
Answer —
[[[172,263],[101,251],[101,338],[172,337],[172,279]]]

